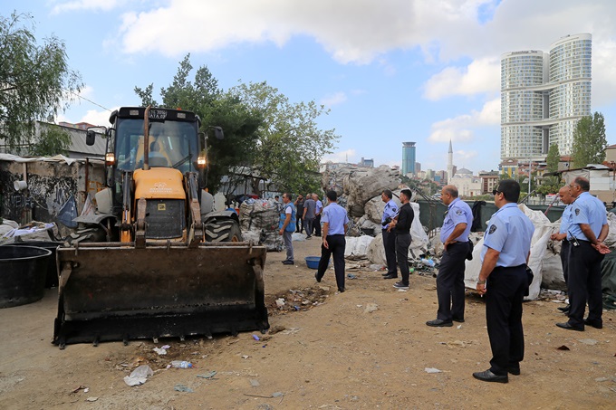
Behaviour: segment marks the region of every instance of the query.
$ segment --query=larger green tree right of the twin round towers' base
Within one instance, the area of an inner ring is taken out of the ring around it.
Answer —
[[[583,117],[577,122],[573,131],[573,167],[602,164],[607,146],[603,114],[595,112],[592,117]]]

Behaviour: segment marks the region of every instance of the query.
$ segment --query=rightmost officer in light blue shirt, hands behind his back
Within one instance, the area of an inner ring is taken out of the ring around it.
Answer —
[[[583,331],[584,325],[602,329],[601,262],[603,254],[610,253],[603,240],[609,233],[605,205],[590,194],[588,179],[578,176],[570,185],[575,197],[567,239],[569,269],[567,292],[569,293],[569,320],[556,323],[559,328]],[[588,318],[584,319],[588,299]]]

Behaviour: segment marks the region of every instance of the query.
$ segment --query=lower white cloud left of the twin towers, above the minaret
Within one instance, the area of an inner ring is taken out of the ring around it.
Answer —
[[[459,115],[452,119],[444,119],[432,124],[432,132],[428,137],[430,142],[470,141],[474,138],[476,127],[486,127],[500,124],[500,100],[487,101],[480,111],[473,110],[470,114]]]

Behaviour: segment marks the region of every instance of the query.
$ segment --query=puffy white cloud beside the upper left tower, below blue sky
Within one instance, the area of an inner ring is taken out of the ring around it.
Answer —
[[[465,68],[448,67],[425,84],[423,96],[440,100],[452,95],[473,95],[500,90],[500,61],[495,57],[471,62]]]

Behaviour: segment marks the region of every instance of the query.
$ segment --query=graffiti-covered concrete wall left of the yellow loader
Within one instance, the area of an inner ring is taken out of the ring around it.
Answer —
[[[104,186],[103,178],[104,164],[99,160],[89,160],[87,167],[85,159],[71,165],[65,161],[0,160],[0,216],[18,224],[55,222],[61,234],[68,234],[69,229],[57,222],[58,212],[73,195],[81,213],[88,193],[93,197]],[[15,191],[14,181],[24,179],[28,188]]]

